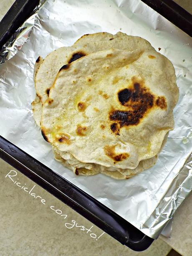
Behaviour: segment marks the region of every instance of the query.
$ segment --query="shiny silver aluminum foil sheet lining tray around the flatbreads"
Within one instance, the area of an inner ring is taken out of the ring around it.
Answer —
[[[29,26],[28,41],[20,51],[6,48],[16,54],[0,65],[0,134],[157,238],[192,190],[192,38],[140,0],[47,0],[30,17]],[[157,164],[129,180],[75,176],[54,160],[51,145],[33,120],[34,63],[38,56],[71,46],[83,34],[119,30],[147,39],[172,61],[180,91],[175,129]]]

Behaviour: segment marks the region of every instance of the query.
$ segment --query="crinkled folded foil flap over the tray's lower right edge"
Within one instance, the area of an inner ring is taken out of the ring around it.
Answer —
[[[167,193],[140,230],[147,236],[158,238],[164,227],[172,219],[177,208],[192,191],[192,152],[184,166],[175,175]]]

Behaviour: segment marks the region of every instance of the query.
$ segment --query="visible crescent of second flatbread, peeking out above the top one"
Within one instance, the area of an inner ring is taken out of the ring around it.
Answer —
[[[44,104],[45,100],[48,99],[51,86],[63,65],[71,63],[89,53],[110,48],[126,51],[154,49],[145,39],[121,32],[116,33],[116,35],[106,32],[83,35],[73,46],[58,48],[48,54],[39,66],[35,76],[35,89],[41,103]]]

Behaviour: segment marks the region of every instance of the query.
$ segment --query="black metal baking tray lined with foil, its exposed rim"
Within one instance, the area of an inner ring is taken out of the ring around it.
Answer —
[[[143,2],[192,36],[192,15],[172,0],[143,0]],[[0,22],[0,48],[28,18],[37,4],[38,0],[15,1]],[[1,136],[0,157],[132,250],[143,251],[154,241],[109,208]]]

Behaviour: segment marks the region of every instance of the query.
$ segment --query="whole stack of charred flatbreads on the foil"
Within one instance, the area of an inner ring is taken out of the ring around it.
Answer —
[[[174,127],[174,67],[137,36],[83,35],[39,57],[34,81],[34,119],[76,175],[136,175],[155,164]]]

